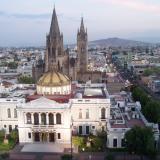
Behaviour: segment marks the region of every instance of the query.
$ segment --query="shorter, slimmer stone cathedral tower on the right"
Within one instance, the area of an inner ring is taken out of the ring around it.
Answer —
[[[83,18],[81,19],[81,26],[77,33],[77,58],[78,71],[87,71],[88,67],[88,35],[85,31]]]

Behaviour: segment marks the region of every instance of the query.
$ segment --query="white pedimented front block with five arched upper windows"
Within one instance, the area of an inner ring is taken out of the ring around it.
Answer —
[[[20,143],[70,143],[70,104],[41,97],[18,106]]]

